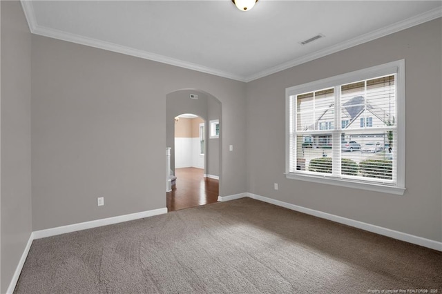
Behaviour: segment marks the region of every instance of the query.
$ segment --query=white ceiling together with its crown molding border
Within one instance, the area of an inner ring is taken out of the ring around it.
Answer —
[[[21,1],[31,32],[251,81],[442,16],[442,1]],[[325,35],[305,46],[315,35]]]

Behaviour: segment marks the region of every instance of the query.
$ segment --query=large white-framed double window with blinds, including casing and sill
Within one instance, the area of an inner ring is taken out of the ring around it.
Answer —
[[[404,64],[287,88],[287,178],[402,195]]]

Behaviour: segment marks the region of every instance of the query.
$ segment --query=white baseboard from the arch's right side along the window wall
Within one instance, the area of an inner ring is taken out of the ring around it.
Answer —
[[[346,224],[347,226],[353,226],[354,228],[361,228],[362,230],[369,231],[372,233],[376,233],[379,235],[391,237],[393,239],[398,239],[401,241],[409,242],[412,244],[420,245],[423,247],[431,248],[437,251],[442,251],[442,242],[434,241],[431,239],[426,239],[423,237],[418,237],[415,235],[410,235],[407,233],[399,232],[391,230],[390,228],[383,228],[381,226],[375,226],[374,224],[367,224],[365,222],[359,222],[354,219],[347,219],[346,217],[340,217],[338,215],[332,215],[329,213],[324,213],[323,211],[314,210],[310,208],[305,208],[302,206],[297,206],[294,204],[289,204],[287,202],[282,202],[280,200],[271,199],[268,197],[263,197],[260,195],[256,195],[253,193],[242,193],[237,195],[231,195],[231,196],[224,196],[220,200],[220,197],[218,197],[218,201],[229,201],[233,199],[239,199],[242,197],[250,197],[252,199],[260,200],[262,202],[267,202],[269,204],[274,204],[277,206],[289,208],[291,210],[299,211],[300,213],[305,213],[307,215],[314,215],[315,217],[320,217],[323,219],[329,219],[333,222],[338,222],[340,224]]]

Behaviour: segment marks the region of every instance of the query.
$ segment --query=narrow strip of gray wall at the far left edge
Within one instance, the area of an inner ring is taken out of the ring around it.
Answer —
[[[19,1],[1,1],[1,288],[5,293],[32,231],[30,50]]]

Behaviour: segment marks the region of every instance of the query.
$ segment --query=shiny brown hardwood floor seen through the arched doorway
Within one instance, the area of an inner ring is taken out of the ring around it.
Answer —
[[[201,168],[175,168],[177,181],[166,193],[168,211],[211,204],[218,201],[218,179],[204,177]]]

